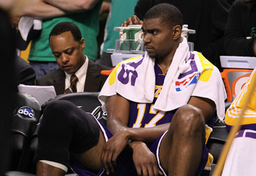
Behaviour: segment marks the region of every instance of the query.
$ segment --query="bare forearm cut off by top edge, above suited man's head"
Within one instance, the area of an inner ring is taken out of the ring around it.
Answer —
[[[96,5],[99,0],[43,0],[50,5],[63,11],[88,11]]]

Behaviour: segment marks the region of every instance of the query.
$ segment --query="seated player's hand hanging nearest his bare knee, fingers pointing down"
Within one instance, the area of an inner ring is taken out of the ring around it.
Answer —
[[[133,141],[133,162],[139,175],[163,175],[157,165],[154,153],[142,141]]]

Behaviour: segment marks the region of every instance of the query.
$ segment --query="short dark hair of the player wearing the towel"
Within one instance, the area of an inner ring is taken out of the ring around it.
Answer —
[[[169,24],[171,28],[176,25],[181,27],[183,25],[181,11],[179,11],[174,5],[170,5],[168,3],[161,3],[149,9],[145,14],[144,20],[155,18],[161,18],[162,22]]]

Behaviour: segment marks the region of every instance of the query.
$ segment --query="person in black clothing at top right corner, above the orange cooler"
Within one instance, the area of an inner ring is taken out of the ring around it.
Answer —
[[[256,56],[256,1],[236,0],[230,8],[224,35],[229,56]]]

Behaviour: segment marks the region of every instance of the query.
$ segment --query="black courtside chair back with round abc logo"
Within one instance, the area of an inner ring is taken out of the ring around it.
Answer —
[[[38,100],[27,93],[17,93],[11,126],[11,164],[8,170],[23,171],[23,159],[40,116]]]

